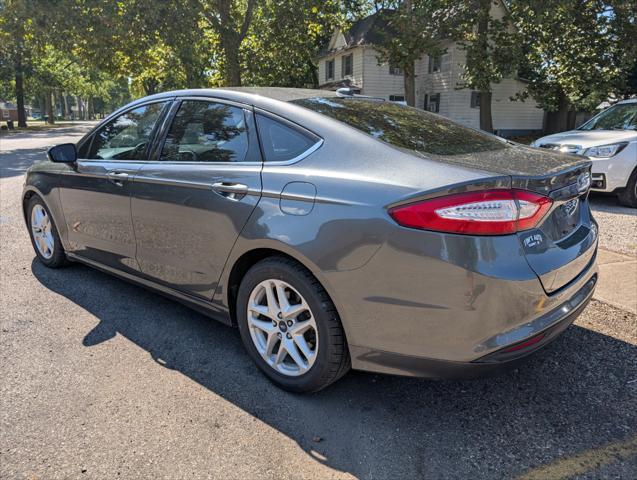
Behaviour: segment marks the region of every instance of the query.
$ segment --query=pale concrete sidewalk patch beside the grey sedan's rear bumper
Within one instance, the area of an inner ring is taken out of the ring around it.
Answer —
[[[593,298],[637,314],[637,258],[599,249],[599,282]]]

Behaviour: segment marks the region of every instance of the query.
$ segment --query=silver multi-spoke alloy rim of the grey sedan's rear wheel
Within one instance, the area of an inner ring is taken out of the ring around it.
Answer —
[[[299,376],[316,361],[318,329],[309,305],[289,283],[268,279],[248,300],[250,336],[261,358],[277,372]]]

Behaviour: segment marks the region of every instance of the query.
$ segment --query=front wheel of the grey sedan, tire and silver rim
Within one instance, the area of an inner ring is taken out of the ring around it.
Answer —
[[[29,199],[26,214],[31,244],[40,262],[48,268],[60,268],[67,265],[66,252],[60,241],[55,221],[39,196],[33,195]]]

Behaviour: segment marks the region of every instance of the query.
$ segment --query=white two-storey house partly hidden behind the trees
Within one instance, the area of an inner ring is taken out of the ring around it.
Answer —
[[[501,3],[493,15],[502,15]],[[349,86],[363,95],[389,101],[404,101],[404,82],[400,69],[378,60],[374,48],[386,23],[379,14],[354,23],[348,31],[336,30],[318,58],[319,86],[337,89]],[[465,52],[455,42],[443,43],[446,52],[439,58],[427,55],[416,62],[416,106],[440,113],[464,125],[479,128],[478,92],[460,89]],[[492,85],[493,128],[501,136],[525,135],[542,130],[544,111],[532,99],[511,100],[524,89],[518,78],[506,78]]]

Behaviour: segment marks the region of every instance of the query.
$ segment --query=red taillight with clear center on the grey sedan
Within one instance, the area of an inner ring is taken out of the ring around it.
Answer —
[[[506,235],[535,227],[548,197],[524,190],[485,190],[433,198],[389,210],[403,227],[471,235]]]

